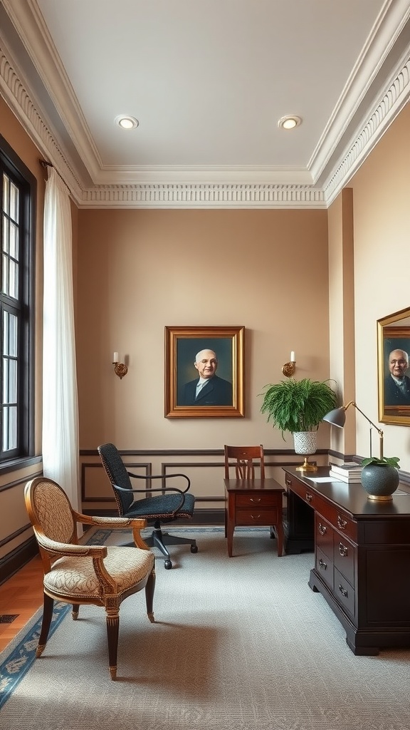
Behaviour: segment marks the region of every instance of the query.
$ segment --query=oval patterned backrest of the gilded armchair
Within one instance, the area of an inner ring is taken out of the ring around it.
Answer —
[[[24,497],[34,532],[38,525],[55,542],[77,542],[71,504],[61,486],[36,477],[26,484]]]

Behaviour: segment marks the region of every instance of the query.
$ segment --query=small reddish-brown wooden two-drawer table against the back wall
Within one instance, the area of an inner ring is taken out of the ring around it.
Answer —
[[[282,495],[285,489],[274,479],[224,479],[225,537],[228,556],[232,557],[233,531],[236,526],[275,527],[278,556],[283,551]]]

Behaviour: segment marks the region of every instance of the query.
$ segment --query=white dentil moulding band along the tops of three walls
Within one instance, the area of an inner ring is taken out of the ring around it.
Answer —
[[[279,183],[136,183],[94,185],[86,188],[74,164],[67,161],[26,91],[6,50],[0,47],[0,91],[23,128],[47,161],[65,180],[81,208],[326,208],[398,115],[410,96],[410,56],[401,64],[365,126],[355,135],[349,150],[322,186]]]

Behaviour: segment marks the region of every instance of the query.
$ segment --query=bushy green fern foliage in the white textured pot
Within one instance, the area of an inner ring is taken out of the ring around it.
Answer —
[[[323,416],[336,408],[336,393],[329,381],[295,380],[293,377],[274,385],[265,385],[261,413],[268,414],[274,428],[295,434],[297,431],[314,431]],[[285,437],[284,437],[285,438]]]

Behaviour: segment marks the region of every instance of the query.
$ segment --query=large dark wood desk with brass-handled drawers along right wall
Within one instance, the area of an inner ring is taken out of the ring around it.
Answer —
[[[360,484],[321,481],[327,466],[309,477],[284,471],[290,504],[285,549],[287,539],[291,552],[298,544],[306,549],[310,539],[309,586],[339,618],[349,648],[365,656],[382,647],[410,647],[410,488],[399,485],[403,493],[393,494],[391,502],[372,502]]]

